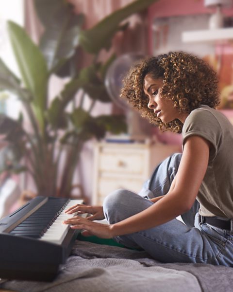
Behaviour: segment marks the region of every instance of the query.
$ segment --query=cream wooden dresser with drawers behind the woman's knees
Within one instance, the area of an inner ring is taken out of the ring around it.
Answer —
[[[139,192],[158,163],[175,152],[177,145],[161,143],[97,143],[94,151],[93,205],[101,205],[112,191]]]

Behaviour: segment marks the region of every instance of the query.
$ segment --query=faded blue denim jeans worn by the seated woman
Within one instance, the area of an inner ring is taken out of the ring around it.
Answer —
[[[153,203],[148,200],[165,195],[174,179],[181,154],[175,153],[159,164],[139,195],[125,189],[110,193],[103,202],[110,224],[129,218]],[[199,203],[165,224],[114,239],[127,247],[142,248],[161,262],[206,263],[233,266],[233,235],[230,231],[200,222]]]

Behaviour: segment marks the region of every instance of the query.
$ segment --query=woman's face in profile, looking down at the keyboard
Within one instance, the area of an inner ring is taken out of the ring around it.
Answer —
[[[145,76],[143,89],[149,98],[148,108],[154,110],[154,114],[163,123],[169,123],[175,119],[184,123],[188,114],[180,113],[178,109],[174,108],[171,99],[160,96],[162,86],[163,78],[154,79],[150,73]]]

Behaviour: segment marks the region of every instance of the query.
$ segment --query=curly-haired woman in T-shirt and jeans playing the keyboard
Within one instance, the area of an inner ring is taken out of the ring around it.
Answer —
[[[233,127],[215,110],[216,73],[183,52],[150,57],[131,69],[121,96],[162,130],[182,132],[183,154],[159,164],[139,195],[120,189],[103,207],[73,206],[67,213],[92,216],[65,223],[162,262],[232,266]],[[109,224],[92,222],[103,218]]]

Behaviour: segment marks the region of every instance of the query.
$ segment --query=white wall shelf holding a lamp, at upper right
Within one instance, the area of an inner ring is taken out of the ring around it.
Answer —
[[[233,28],[208,29],[182,33],[183,42],[217,42],[233,39]]]

